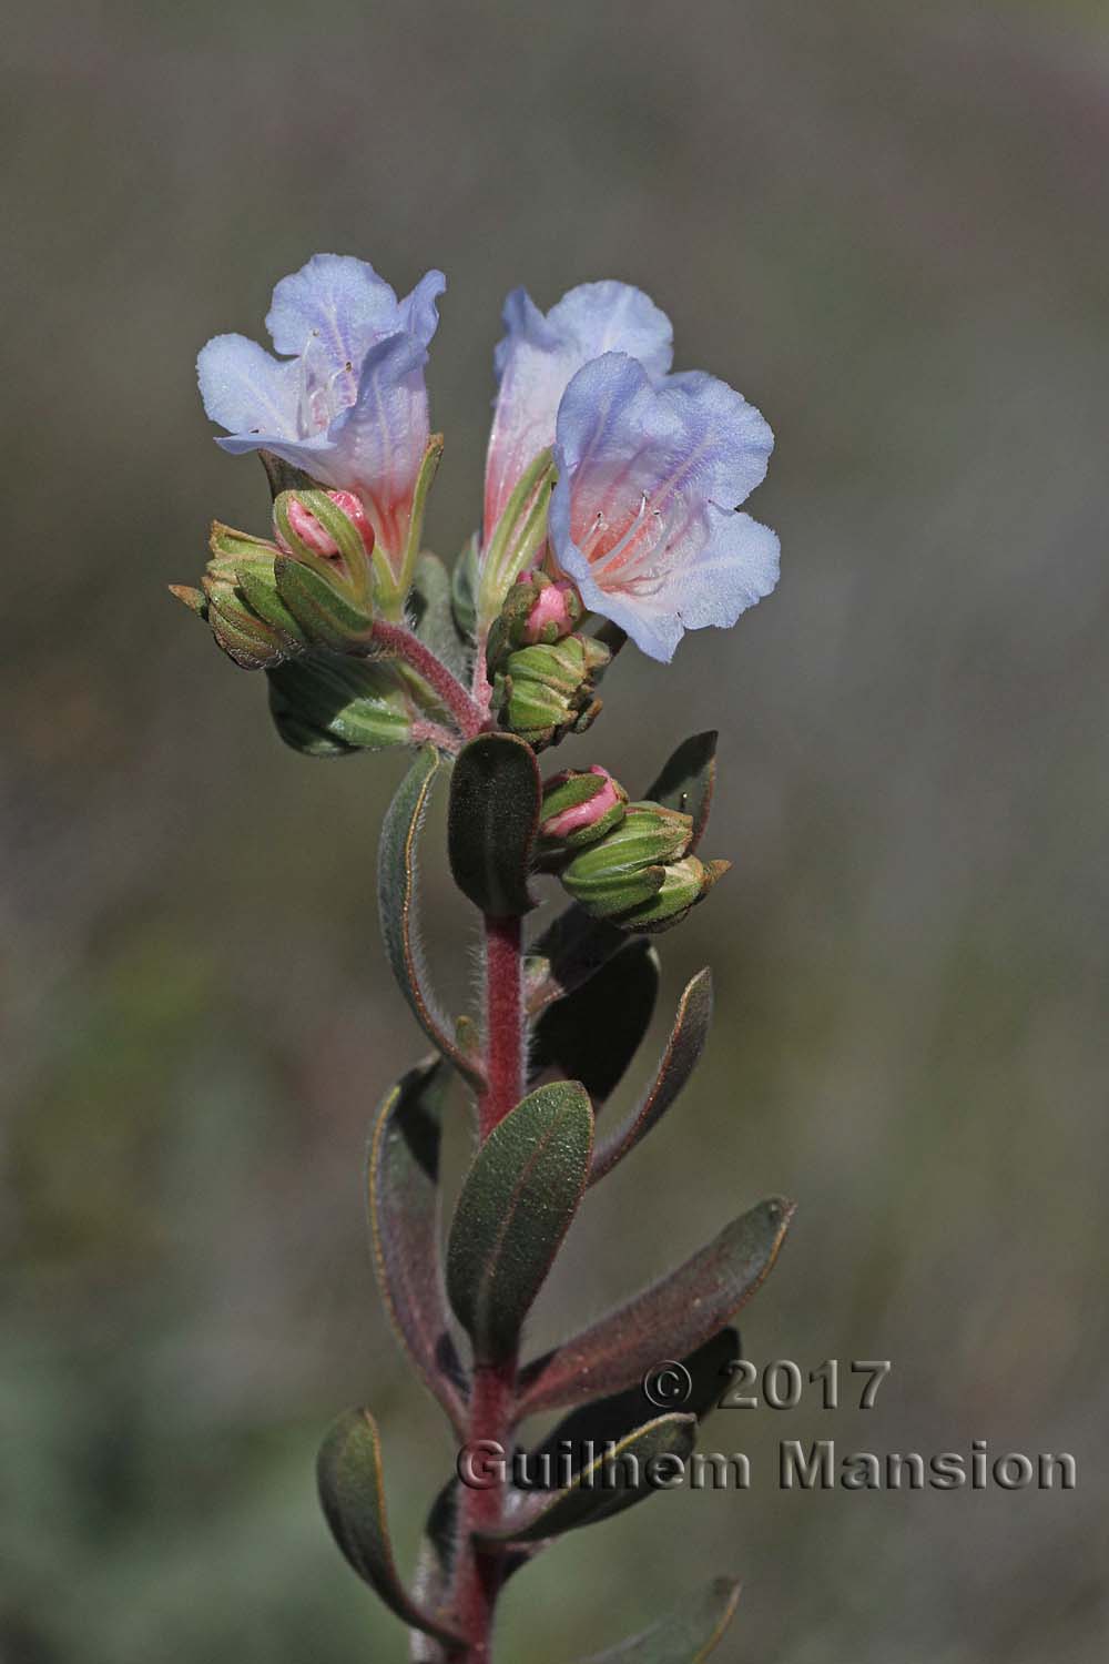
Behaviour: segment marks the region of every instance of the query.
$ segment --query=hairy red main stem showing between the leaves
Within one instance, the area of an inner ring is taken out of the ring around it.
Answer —
[[[485,1087],[479,1102],[482,1143],[515,1108],[524,1092],[522,927],[519,919],[485,919]],[[497,1446],[512,1454],[515,1358],[477,1366],[469,1401],[467,1443]],[[454,1609],[469,1641],[466,1664],[489,1664],[492,1619],[500,1589],[500,1558],[474,1548],[472,1533],[495,1528],[504,1509],[504,1486],[462,1486],[459,1494],[459,1558]]]

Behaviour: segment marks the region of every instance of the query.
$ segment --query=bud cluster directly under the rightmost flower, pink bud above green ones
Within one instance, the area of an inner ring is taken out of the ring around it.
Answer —
[[[574,584],[522,572],[489,631],[485,662],[502,727],[535,750],[584,734],[600,712],[595,677],[612,654],[577,634],[582,601]]]

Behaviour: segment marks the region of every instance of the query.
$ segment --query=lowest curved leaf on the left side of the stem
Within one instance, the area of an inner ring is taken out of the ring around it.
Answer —
[[[316,1476],[328,1524],[359,1577],[412,1629],[457,1642],[457,1631],[417,1606],[397,1574],[386,1523],[381,1438],[367,1409],[339,1416],[319,1449]]]

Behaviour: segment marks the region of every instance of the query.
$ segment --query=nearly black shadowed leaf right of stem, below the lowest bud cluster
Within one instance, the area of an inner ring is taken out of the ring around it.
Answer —
[[[557,1070],[580,1080],[597,1108],[620,1085],[657,997],[658,955],[632,940],[585,987],[547,1007],[532,1035],[532,1078]]]

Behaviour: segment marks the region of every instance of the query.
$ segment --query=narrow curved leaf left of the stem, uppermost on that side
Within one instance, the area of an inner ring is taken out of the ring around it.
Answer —
[[[392,975],[416,1022],[432,1045],[477,1088],[482,1085],[481,1068],[462,1052],[451,1025],[436,1008],[424,987],[416,952],[416,844],[439,765],[434,745],[424,745],[386,812],[377,852],[381,935]]]

